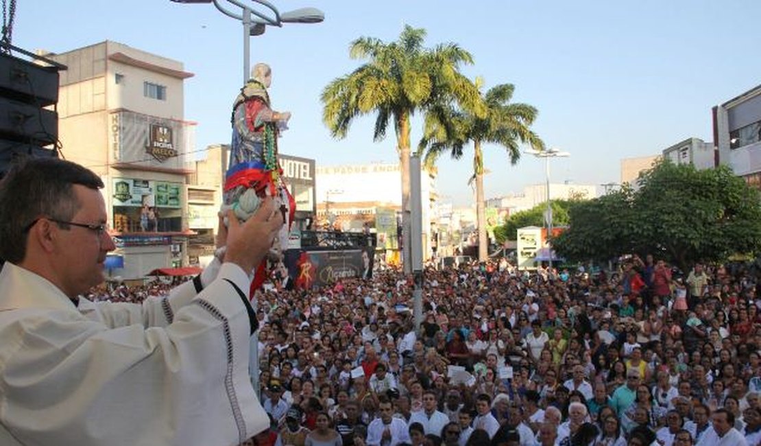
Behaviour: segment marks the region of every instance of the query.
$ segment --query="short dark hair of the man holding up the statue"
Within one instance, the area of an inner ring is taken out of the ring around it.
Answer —
[[[28,227],[40,217],[70,221],[82,203],[73,185],[100,189],[94,172],[57,158],[29,158],[11,167],[0,180],[0,258],[21,263],[26,256]]]

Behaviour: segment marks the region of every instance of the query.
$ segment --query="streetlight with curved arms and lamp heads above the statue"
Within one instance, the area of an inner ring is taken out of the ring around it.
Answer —
[[[257,11],[256,5],[247,5],[238,0],[226,0],[237,6],[242,11],[235,14],[220,5],[221,0],[171,0],[175,3],[214,3],[215,8],[222,14],[239,20],[243,23],[243,81],[246,83],[250,78],[250,37],[260,36],[266,30],[266,26],[282,27],[283,24],[317,24],[325,20],[325,14],[317,8],[299,8],[293,11],[281,13],[275,5],[266,0],[250,0],[254,4],[262,5],[269,12]]]

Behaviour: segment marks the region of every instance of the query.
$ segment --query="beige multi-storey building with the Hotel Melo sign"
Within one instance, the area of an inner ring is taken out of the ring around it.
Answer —
[[[186,266],[196,123],[184,119],[183,87],[193,73],[113,41],[46,56],[68,67],[59,90],[62,154],[105,183],[119,257],[110,264],[122,266],[110,274],[141,279]]]

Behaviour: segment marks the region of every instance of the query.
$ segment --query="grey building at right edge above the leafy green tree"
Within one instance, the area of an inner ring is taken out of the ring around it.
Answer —
[[[761,189],[761,85],[713,107],[718,163]]]

